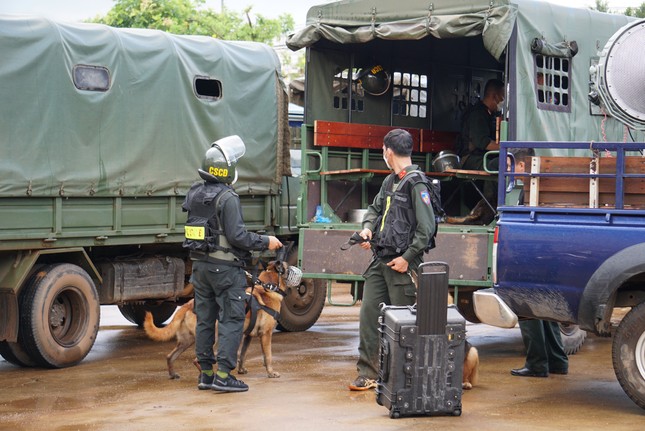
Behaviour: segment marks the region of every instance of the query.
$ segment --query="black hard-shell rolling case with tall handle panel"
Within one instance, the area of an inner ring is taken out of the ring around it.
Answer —
[[[419,267],[417,305],[381,309],[376,402],[391,418],[461,415],[466,321],[447,296],[448,265],[428,262]]]

